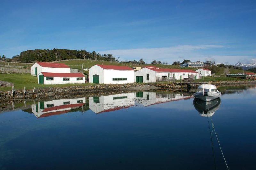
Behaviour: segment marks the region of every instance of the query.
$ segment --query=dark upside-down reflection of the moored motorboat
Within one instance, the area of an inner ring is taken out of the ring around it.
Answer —
[[[220,108],[221,99],[217,98],[212,101],[202,101],[200,99],[195,98],[193,100],[193,105],[195,109],[199,112],[200,116],[213,116],[214,113]]]

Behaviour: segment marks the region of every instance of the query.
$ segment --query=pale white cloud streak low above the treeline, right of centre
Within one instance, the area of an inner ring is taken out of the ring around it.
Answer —
[[[222,45],[178,45],[163,48],[138,48],[138,49],[120,49],[100,51],[100,54],[113,54],[120,57],[121,60],[139,60],[143,58],[147,63],[154,59],[167,61],[172,63],[181,58],[190,59],[192,61],[206,61],[206,57],[202,54],[195,53],[198,50],[207,50],[212,48],[223,48]],[[180,57],[182,56],[182,57]]]

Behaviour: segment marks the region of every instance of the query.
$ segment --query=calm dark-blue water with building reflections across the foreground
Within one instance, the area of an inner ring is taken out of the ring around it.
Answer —
[[[152,91],[0,108],[0,169],[227,169],[220,146],[229,169],[254,169],[256,87],[220,91],[209,103]]]

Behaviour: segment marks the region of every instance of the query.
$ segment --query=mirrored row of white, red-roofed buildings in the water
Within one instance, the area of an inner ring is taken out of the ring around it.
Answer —
[[[87,98],[39,101],[32,104],[31,109],[37,118],[42,118],[72,112],[72,110],[79,107],[82,107],[83,111],[90,109],[95,113],[104,113],[127,109],[135,104],[150,106],[189,98],[192,98],[190,94],[184,95],[179,92],[132,92]],[[86,108],[84,108],[84,105],[86,105]]]

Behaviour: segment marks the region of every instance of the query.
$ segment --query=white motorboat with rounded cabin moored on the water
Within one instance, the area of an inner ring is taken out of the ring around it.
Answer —
[[[197,92],[194,93],[193,96],[200,100],[208,102],[221,97],[221,93],[213,84],[202,84],[197,88]]]

